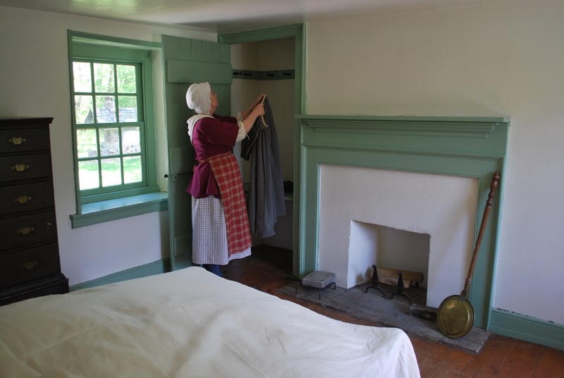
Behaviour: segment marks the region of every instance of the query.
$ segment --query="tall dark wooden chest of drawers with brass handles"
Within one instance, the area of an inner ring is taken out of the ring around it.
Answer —
[[[68,293],[59,260],[51,121],[0,118],[0,305]]]

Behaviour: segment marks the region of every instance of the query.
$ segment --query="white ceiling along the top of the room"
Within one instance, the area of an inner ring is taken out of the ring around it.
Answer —
[[[471,3],[484,0],[0,0],[0,6],[214,33]]]

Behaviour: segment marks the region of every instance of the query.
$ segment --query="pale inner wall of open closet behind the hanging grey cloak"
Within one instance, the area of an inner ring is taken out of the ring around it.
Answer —
[[[233,44],[231,46],[231,65],[233,70],[242,71],[283,71],[295,69],[295,42],[293,38],[275,39],[262,42]],[[293,76],[292,76],[293,77]],[[252,80],[233,78],[231,85],[231,111],[235,115],[265,93],[274,116],[278,147],[284,181],[293,181],[294,159],[294,79]],[[243,182],[250,180],[250,162],[240,158],[240,143],[235,146]],[[286,193],[286,215],[279,217],[274,231],[276,235],[261,240],[253,240],[253,245],[272,245],[278,248],[293,249],[293,205],[292,195]]]

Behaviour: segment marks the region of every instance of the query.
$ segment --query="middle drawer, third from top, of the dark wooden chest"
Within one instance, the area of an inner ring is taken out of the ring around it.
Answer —
[[[0,188],[0,216],[54,206],[51,181]]]

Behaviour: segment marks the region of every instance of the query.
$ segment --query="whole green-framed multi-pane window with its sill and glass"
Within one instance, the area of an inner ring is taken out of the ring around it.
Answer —
[[[158,204],[149,211],[162,209],[166,195],[159,193],[156,180],[151,49],[77,32],[69,32],[69,40],[77,193],[73,228],[143,214],[147,209],[131,208],[147,202]]]

